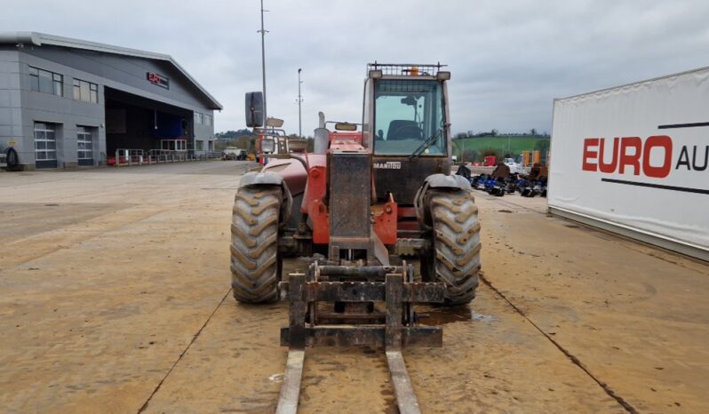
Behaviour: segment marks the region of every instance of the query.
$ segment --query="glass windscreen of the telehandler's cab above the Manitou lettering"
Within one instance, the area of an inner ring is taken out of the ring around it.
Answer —
[[[441,82],[386,79],[374,94],[374,154],[446,153]]]

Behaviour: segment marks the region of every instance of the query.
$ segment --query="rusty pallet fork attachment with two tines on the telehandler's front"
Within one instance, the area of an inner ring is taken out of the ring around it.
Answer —
[[[289,302],[289,326],[281,346],[289,346],[277,414],[298,411],[306,346],[372,346],[386,349],[396,404],[402,414],[420,413],[403,360],[404,346],[442,346],[442,328],[417,326],[414,303],[441,303],[443,283],[416,283],[413,267],[313,263],[307,273],[280,283]],[[334,303],[336,312],[328,312]],[[376,310],[374,304],[385,304]]]

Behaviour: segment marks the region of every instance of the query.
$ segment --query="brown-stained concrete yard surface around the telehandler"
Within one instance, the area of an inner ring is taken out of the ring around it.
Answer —
[[[287,307],[229,290],[247,168],[0,173],[0,412],[273,412]],[[404,351],[424,412],[709,412],[709,265],[475,194],[478,298]],[[308,349],[300,412],[396,412],[383,352]]]

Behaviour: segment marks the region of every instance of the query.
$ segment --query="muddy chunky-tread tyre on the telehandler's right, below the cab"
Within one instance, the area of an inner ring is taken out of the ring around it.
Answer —
[[[480,221],[472,192],[431,190],[434,251],[422,261],[426,279],[446,285],[446,305],[475,298],[480,272]],[[433,276],[433,277],[432,277]]]

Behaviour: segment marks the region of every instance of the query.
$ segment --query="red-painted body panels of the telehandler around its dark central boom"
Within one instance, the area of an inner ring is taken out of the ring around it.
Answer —
[[[362,132],[330,132],[330,150],[332,149],[346,151],[364,149]],[[313,243],[327,244],[330,242],[330,222],[327,205],[323,202],[328,188],[327,155],[295,156],[306,161],[307,171],[302,163],[293,159],[273,160],[264,167],[263,171],[273,171],[283,176],[293,196],[303,194],[300,212],[307,214],[312,221]],[[391,196],[386,203],[373,204],[371,211],[374,218],[374,232],[381,242],[387,245],[396,243],[396,231],[399,227],[413,229],[412,225],[416,225],[416,214],[413,209],[400,209]]]

